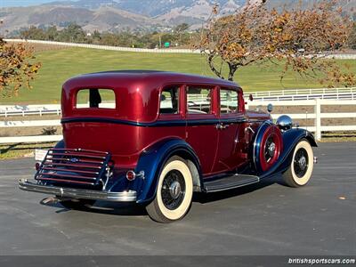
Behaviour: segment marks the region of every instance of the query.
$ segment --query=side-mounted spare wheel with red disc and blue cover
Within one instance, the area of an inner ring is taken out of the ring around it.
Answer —
[[[283,150],[283,138],[279,127],[272,122],[265,122],[255,134],[253,158],[258,174],[274,166]]]

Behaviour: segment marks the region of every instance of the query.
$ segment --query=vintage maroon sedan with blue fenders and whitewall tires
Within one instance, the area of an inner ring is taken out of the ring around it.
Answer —
[[[290,117],[245,109],[239,85],[211,77],[127,70],[69,79],[61,97],[63,140],[21,190],[63,206],[95,200],[146,206],[161,223],[181,219],[194,191],[210,193],[283,174],[306,184],[311,133]]]

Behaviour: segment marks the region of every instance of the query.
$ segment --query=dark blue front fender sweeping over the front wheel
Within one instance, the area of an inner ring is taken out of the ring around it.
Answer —
[[[293,157],[293,151],[298,142],[302,139],[311,143],[312,147],[317,147],[314,136],[309,131],[302,128],[292,128],[282,134],[283,152],[279,156],[278,162],[268,171],[260,175],[260,178],[266,178],[274,174],[283,173],[290,166]]]

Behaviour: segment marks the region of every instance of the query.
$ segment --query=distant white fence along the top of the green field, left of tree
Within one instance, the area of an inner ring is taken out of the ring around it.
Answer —
[[[40,41],[40,40],[23,40],[23,39],[4,39],[4,40],[6,42],[13,42],[13,43],[27,42],[30,44],[51,44],[57,46],[82,47],[82,48],[90,48],[90,49],[135,52],[135,53],[200,53],[200,50],[191,50],[191,49],[149,49],[149,48],[132,48],[132,47],[120,47],[120,46],[109,46],[109,45],[99,45],[99,44],[74,44],[74,43],[62,43],[62,42],[52,42],[52,41]]]

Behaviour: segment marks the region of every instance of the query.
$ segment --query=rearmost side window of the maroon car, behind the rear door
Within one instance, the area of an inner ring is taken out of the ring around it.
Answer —
[[[180,86],[174,85],[163,89],[161,93],[159,114],[178,114],[180,101],[179,101]]]

